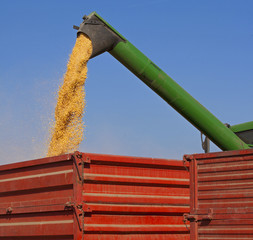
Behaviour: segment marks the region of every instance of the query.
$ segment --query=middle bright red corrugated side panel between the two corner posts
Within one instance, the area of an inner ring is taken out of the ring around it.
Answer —
[[[189,176],[181,161],[86,154],[85,239],[189,239]],[[101,233],[102,236],[101,236]]]

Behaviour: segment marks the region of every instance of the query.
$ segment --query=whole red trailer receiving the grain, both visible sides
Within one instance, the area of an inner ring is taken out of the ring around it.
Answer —
[[[176,160],[79,153],[0,166],[0,239],[188,240]]]

